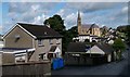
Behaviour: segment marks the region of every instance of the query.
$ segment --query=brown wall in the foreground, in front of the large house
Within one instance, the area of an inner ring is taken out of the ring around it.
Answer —
[[[44,75],[51,75],[49,61],[2,65],[2,76],[43,77]]]

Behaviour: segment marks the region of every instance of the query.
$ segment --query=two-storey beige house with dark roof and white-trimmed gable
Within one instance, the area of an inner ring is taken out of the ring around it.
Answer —
[[[47,25],[17,23],[3,36],[3,52],[10,50],[16,62],[62,57],[62,36]]]

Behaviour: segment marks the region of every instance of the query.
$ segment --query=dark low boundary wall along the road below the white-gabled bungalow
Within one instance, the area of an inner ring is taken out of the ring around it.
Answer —
[[[101,56],[98,57],[95,55],[90,56],[73,56],[69,54],[65,54],[65,64],[66,65],[98,65],[98,64],[103,64],[106,63],[106,56]]]

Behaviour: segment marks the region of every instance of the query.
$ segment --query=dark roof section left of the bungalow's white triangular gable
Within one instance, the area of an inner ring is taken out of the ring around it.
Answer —
[[[67,52],[87,52],[90,47],[86,42],[70,42],[67,47]]]

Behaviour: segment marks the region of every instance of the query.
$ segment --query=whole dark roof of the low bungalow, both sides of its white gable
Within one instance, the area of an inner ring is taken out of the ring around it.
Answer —
[[[113,47],[107,43],[86,43],[86,42],[70,42],[67,48],[67,52],[87,52],[90,49],[90,46],[98,46],[106,54],[114,51]]]

